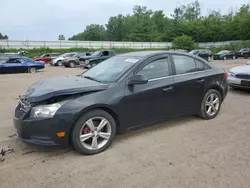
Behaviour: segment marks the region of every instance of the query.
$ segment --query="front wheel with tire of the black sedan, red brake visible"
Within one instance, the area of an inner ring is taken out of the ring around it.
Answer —
[[[94,155],[106,150],[116,134],[116,122],[106,111],[93,110],[79,118],[72,131],[77,152]]]

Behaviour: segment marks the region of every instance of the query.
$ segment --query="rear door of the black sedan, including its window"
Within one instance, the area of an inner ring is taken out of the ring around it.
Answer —
[[[206,65],[190,56],[172,55],[176,115],[197,112],[204,95]]]

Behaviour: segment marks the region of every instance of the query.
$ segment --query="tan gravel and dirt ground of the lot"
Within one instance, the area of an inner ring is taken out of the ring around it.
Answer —
[[[215,62],[224,68],[245,63]],[[94,156],[18,140],[16,97],[38,80],[82,71],[48,66],[36,74],[0,75],[0,147],[14,149],[0,162],[1,188],[250,187],[250,93],[243,91],[230,91],[213,120],[182,117],[119,135]]]

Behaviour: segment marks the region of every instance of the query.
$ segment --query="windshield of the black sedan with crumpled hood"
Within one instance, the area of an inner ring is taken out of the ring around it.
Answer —
[[[95,67],[84,72],[82,76],[103,83],[116,82],[139,60],[138,57],[115,56],[97,64]]]

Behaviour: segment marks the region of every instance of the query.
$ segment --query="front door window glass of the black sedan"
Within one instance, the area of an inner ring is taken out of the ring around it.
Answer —
[[[153,61],[143,67],[137,74],[146,76],[149,80],[170,75],[168,58]]]

